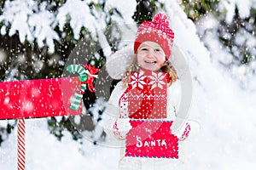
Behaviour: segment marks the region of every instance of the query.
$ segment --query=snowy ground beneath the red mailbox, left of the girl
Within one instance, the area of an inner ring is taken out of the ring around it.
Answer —
[[[26,169],[116,169],[119,151],[74,141],[64,132],[61,142],[49,133],[46,119],[26,120]],[[16,169],[16,133],[0,147],[0,169]],[[104,164],[104,166],[103,166]]]

